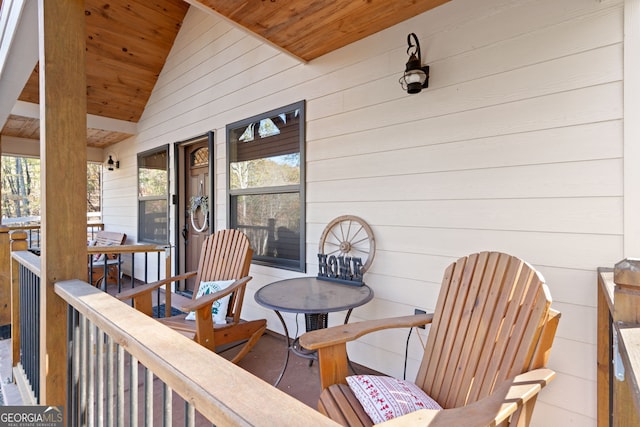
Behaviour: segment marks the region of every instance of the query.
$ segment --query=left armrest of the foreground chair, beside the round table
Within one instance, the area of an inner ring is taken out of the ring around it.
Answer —
[[[344,344],[382,329],[422,326],[431,323],[432,320],[433,314],[430,313],[338,325],[303,334],[300,336],[300,345],[307,350],[318,350],[323,347]]]

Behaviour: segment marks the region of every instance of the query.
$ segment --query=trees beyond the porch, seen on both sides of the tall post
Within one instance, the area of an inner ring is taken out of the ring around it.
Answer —
[[[102,166],[87,164],[87,212],[100,212]],[[2,156],[2,218],[40,216],[40,159]]]

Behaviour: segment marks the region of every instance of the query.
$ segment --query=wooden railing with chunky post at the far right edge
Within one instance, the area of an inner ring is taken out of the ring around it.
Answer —
[[[598,270],[598,427],[640,426],[637,267],[622,261],[615,274],[610,268]]]

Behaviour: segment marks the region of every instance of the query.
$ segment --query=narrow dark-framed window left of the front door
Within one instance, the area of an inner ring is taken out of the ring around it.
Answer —
[[[169,242],[169,146],[138,154],[138,240]]]

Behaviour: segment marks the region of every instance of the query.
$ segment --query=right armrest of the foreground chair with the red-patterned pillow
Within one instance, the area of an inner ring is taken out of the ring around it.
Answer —
[[[533,405],[538,392],[554,377],[555,372],[550,369],[535,369],[505,381],[490,396],[469,405],[442,411],[421,409],[376,426],[486,427],[500,425],[523,406]],[[526,417],[531,414],[531,410],[532,408],[521,412]]]

